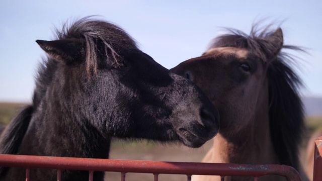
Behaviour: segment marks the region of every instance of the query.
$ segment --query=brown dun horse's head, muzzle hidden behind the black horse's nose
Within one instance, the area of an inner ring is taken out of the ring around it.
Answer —
[[[263,37],[223,35],[202,56],[171,71],[196,83],[208,96],[219,110],[221,130],[238,132],[260,111],[268,113],[268,68],[282,46],[280,28]]]

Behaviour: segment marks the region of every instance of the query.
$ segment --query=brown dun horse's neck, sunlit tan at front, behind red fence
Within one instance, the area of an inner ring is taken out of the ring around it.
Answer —
[[[257,111],[252,120],[244,121],[243,129],[222,129],[213,139],[213,147],[204,157],[203,162],[238,163],[238,164],[279,164],[269,128],[268,95],[259,96]],[[221,120],[225,121],[225,120]],[[238,131],[236,131],[238,130]],[[199,177],[196,177],[199,180]],[[220,177],[209,177],[220,180]],[[200,180],[206,180],[200,176]],[[253,177],[229,177],[225,180],[254,180]],[[285,180],[281,176],[264,176],[260,180]]]

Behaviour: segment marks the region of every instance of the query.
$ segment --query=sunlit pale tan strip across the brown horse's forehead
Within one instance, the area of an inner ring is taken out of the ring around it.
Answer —
[[[225,55],[235,55],[237,58],[247,58],[248,51],[243,48],[235,48],[235,47],[218,47],[211,48],[204,55],[213,55],[213,56],[225,56]]]

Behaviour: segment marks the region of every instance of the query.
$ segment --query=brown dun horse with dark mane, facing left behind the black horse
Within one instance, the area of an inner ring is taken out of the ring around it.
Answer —
[[[180,63],[171,71],[196,83],[220,114],[220,131],[203,162],[285,164],[306,179],[298,150],[304,130],[299,76],[290,64],[296,60],[282,49],[281,28],[255,25],[251,34],[230,29],[214,39],[200,57]],[[196,175],[194,180],[220,180]],[[259,180],[284,180],[263,176]],[[225,180],[253,180],[228,177]]]

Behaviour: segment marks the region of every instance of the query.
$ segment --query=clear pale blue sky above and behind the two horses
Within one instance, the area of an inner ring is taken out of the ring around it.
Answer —
[[[35,40],[51,40],[70,18],[101,15],[122,27],[142,51],[166,68],[201,55],[220,27],[249,33],[255,20],[285,20],[286,44],[308,48],[299,74],[304,96],[322,97],[322,1],[5,1],[0,0],[0,101],[29,102],[45,53]]]

